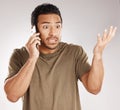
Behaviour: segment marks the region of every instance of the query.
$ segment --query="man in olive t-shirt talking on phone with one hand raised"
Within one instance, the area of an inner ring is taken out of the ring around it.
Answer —
[[[104,76],[102,53],[116,27],[98,35],[90,66],[81,46],[60,41],[62,17],[56,6],[36,7],[31,23],[36,33],[10,59],[4,86],[7,98],[16,102],[22,97],[23,110],[81,110],[78,79],[88,92],[99,93]]]

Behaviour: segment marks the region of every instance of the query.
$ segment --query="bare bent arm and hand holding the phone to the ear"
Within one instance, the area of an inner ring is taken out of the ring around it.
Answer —
[[[40,38],[36,37],[38,35],[39,33],[33,34],[26,44],[26,49],[29,53],[26,63],[16,75],[5,81],[4,90],[7,98],[12,102],[16,102],[22,97],[30,85],[35,64],[39,57],[39,50],[36,48],[37,44],[40,45]]]

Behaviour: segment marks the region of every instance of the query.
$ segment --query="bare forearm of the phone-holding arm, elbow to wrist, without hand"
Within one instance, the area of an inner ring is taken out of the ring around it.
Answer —
[[[20,71],[5,82],[5,92],[11,101],[17,101],[29,87],[36,61],[28,59]]]

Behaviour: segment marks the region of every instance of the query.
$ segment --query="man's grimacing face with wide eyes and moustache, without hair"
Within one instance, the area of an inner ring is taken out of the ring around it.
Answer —
[[[38,30],[41,46],[47,49],[56,49],[61,40],[61,19],[57,14],[43,14],[38,16]]]

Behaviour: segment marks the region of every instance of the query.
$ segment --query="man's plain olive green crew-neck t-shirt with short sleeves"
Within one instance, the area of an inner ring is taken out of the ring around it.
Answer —
[[[9,77],[17,74],[29,55],[25,47],[15,49],[9,63]],[[90,70],[81,46],[60,42],[52,54],[40,53],[23,110],[81,110],[78,79]]]

